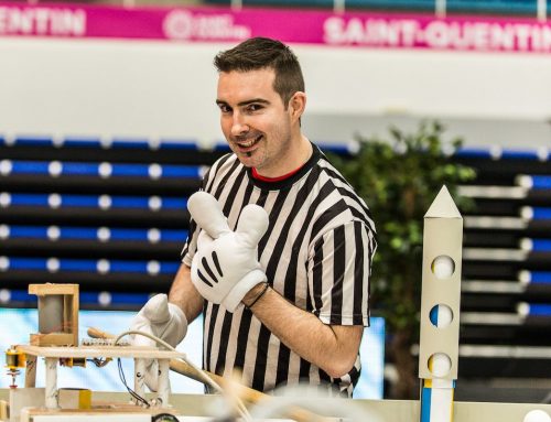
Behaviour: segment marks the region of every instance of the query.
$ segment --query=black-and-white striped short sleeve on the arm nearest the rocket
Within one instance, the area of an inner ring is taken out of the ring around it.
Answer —
[[[333,325],[369,326],[372,231],[354,220],[325,232],[309,260],[312,312]]]

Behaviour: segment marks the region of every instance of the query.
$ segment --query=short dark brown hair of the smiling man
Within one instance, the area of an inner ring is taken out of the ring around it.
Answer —
[[[277,40],[255,37],[244,41],[219,53],[214,65],[224,73],[273,69],[273,90],[281,97],[285,109],[296,91],[305,91],[299,59],[291,48]]]

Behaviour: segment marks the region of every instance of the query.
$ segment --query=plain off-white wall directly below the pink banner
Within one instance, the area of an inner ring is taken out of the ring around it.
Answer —
[[[212,59],[234,44],[0,35],[0,134],[220,141]],[[291,44],[314,140],[440,118],[467,144],[549,143],[548,52]]]

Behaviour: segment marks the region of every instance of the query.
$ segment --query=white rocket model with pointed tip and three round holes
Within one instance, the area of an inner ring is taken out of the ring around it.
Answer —
[[[421,422],[451,422],[457,379],[463,218],[445,186],[424,216]]]

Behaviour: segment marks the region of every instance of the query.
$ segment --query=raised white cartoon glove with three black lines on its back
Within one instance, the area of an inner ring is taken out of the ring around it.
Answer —
[[[216,198],[193,194],[187,209],[203,229],[192,261],[192,282],[207,301],[235,312],[255,285],[267,281],[257,258],[258,242],[268,229],[268,214],[247,205],[231,231]]]

